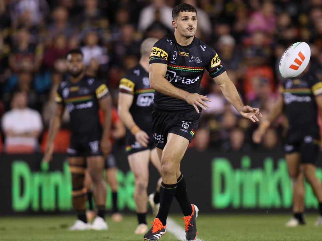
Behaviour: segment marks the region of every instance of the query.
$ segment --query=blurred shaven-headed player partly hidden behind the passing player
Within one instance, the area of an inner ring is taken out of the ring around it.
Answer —
[[[149,56],[157,39],[148,38],[141,44],[139,63],[130,68],[120,80],[118,94],[118,113],[127,127],[126,151],[128,162],[135,177],[134,199],[136,203],[138,226],[134,233],[147,232],[147,185],[149,181],[149,162],[161,173],[161,165],[152,136],[152,117],[154,90],[150,88]],[[149,196],[154,212],[160,200],[159,179],[156,192]]]

